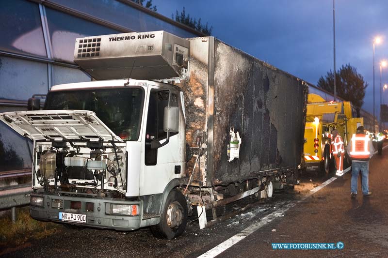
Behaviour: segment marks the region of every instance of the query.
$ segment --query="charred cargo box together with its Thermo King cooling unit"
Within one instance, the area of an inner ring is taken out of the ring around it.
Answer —
[[[184,92],[186,141],[190,152],[203,150],[192,185],[280,176],[301,162],[306,83],[214,37],[165,31],[85,37],[76,41],[74,61],[96,79],[130,75]],[[191,176],[195,160],[182,177]]]

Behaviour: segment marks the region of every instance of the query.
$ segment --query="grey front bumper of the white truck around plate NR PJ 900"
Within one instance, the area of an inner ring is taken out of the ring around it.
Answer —
[[[90,197],[69,197],[58,196],[52,194],[38,194],[32,193],[31,196],[43,197],[43,207],[30,206],[30,215],[32,218],[43,221],[52,221],[59,223],[74,224],[79,226],[93,227],[93,228],[110,228],[115,230],[134,230],[140,228],[143,201],[127,201],[127,200],[113,200],[109,198],[90,198]],[[52,200],[62,200],[63,208],[52,207]],[[71,202],[78,202],[79,209],[72,209]],[[80,203],[81,202],[81,203]],[[93,203],[93,211],[90,207]],[[108,215],[105,213],[106,203],[117,204],[137,204],[139,205],[139,215],[137,216],[123,216],[123,215]],[[88,208],[87,208],[88,207]],[[87,210],[89,209],[89,210]],[[76,214],[86,214],[86,223],[68,222],[59,219],[59,212],[69,212]]]

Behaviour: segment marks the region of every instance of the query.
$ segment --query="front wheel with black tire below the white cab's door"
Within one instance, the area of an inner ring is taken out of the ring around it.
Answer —
[[[161,221],[158,225],[151,226],[151,232],[157,238],[171,240],[183,234],[186,224],[186,198],[178,190],[172,190],[164,204]]]

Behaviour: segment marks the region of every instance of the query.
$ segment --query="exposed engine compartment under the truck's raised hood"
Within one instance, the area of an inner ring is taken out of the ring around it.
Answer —
[[[34,151],[34,188],[104,196],[127,190],[122,143],[37,142]]]

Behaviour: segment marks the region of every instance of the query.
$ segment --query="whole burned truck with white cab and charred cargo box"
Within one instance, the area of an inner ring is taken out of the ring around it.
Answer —
[[[30,99],[31,111],[0,114],[34,142],[33,218],[173,239],[191,214],[203,228],[206,211],[295,182],[301,79],[165,31],[79,38],[74,61],[95,80],[53,86],[43,110]]]

